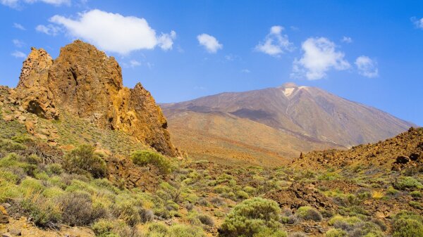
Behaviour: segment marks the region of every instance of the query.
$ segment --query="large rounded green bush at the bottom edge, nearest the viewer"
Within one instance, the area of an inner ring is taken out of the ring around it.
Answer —
[[[281,209],[273,200],[252,198],[236,205],[219,228],[221,236],[254,236],[266,229],[279,228]]]

